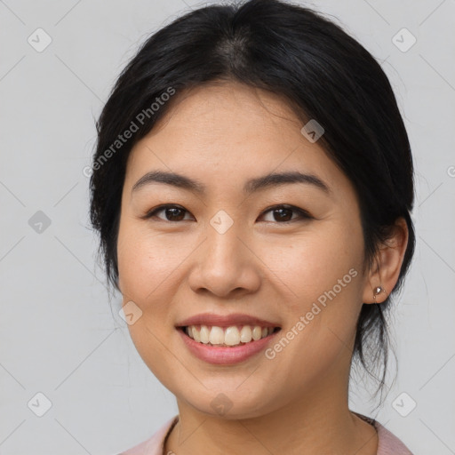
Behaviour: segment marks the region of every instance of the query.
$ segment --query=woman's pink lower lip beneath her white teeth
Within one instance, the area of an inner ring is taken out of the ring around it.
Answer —
[[[177,329],[177,331],[179,331],[180,336],[192,354],[196,355],[197,358],[204,360],[204,362],[217,365],[232,365],[233,363],[245,361],[252,355],[256,355],[264,350],[272,339],[275,338],[275,335],[279,333],[279,331],[275,331],[265,338],[250,341],[249,343],[235,347],[216,347],[195,341],[188,337],[181,329]]]

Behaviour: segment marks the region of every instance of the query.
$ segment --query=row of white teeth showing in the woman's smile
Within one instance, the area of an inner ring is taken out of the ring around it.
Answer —
[[[249,343],[251,340],[256,341],[265,338],[273,333],[273,327],[260,327],[259,325],[243,325],[240,327],[231,325],[229,327],[218,327],[213,325],[190,325],[186,327],[185,332],[195,341],[224,346],[239,346],[241,343]]]

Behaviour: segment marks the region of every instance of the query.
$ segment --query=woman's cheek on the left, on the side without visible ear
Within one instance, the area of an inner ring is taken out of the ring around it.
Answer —
[[[178,267],[188,254],[178,246],[169,238],[150,235],[147,229],[127,223],[119,230],[118,271],[124,304],[132,300],[142,311],[128,330],[144,362],[164,383],[178,366],[165,346],[175,330],[169,302],[181,281]]]

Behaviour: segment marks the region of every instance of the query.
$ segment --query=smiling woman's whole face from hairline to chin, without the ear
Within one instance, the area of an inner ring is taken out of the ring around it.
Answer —
[[[302,126],[273,94],[204,86],[129,156],[117,244],[128,327],[198,411],[227,400],[227,418],[254,417],[346,387],[367,285],[359,207]]]

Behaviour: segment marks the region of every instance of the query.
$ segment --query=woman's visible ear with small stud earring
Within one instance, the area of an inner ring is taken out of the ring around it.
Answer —
[[[395,220],[392,235],[387,239],[386,244],[381,244],[378,255],[375,258],[373,270],[363,289],[363,303],[382,303],[394,289],[400,270],[403,264],[404,253],[408,244],[408,225],[403,217]],[[382,287],[381,292],[373,298],[377,287]]]

